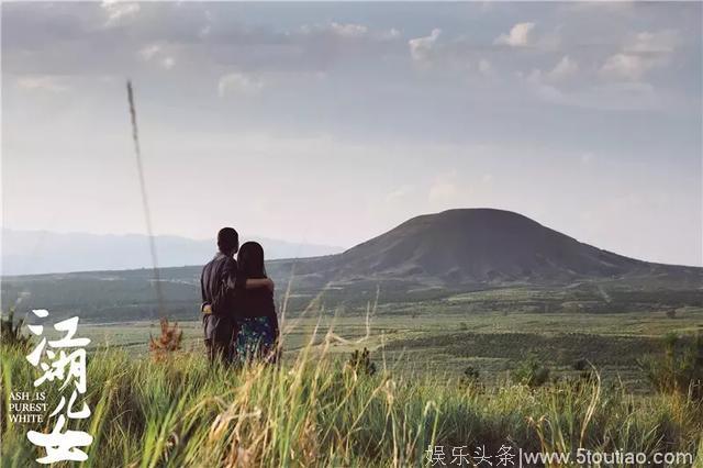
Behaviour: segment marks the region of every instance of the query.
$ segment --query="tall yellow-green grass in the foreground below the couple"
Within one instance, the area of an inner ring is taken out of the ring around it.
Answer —
[[[3,467],[44,455],[25,433],[48,432],[55,419],[37,427],[8,413],[10,391],[33,391],[34,378],[23,354],[3,348]],[[455,446],[496,454],[503,445],[703,452],[703,408],[687,395],[632,395],[598,378],[529,389],[383,369],[366,376],[313,348],[280,368],[244,370],[210,369],[198,353],[157,363],[108,349],[89,356],[87,398],[92,415],[70,428],[93,435],[85,466],[96,467],[423,466],[429,445],[448,454]],[[59,395],[47,399],[51,412]]]

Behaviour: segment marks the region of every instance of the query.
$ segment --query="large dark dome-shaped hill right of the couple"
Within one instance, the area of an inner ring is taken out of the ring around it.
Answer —
[[[696,270],[602,250],[510,211],[461,209],[413,218],[342,254],[308,260],[298,272],[336,280],[538,283],[677,268]]]

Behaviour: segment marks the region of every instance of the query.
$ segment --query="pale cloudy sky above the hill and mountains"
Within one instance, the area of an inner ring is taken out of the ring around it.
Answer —
[[[520,212],[703,265],[702,5],[3,3],[11,229],[353,246]]]

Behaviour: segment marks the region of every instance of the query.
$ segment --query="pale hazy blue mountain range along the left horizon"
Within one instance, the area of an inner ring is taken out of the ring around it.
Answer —
[[[295,244],[266,237],[257,241],[268,258],[294,258],[336,254],[342,247]],[[148,237],[141,234],[60,234],[47,231],[2,230],[2,275],[121,270],[150,267]],[[216,250],[214,239],[156,236],[160,267],[202,265]]]

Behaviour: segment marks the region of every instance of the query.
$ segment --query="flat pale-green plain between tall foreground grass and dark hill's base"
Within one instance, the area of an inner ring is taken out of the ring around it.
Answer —
[[[449,303],[450,307],[446,307]],[[364,310],[314,316],[293,316],[282,323],[284,356],[294,358],[311,339],[320,344],[332,332],[328,353],[346,354],[368,347],[379,365],[403,371],[460,375],[467,366],[489,382],[527,355],[535,355],[555,372],[569,374],[573,361],[588,359],[604,380],[622,379],[634,391],[647,391],[636,360],[661,353],[662,337],[676,333],[692,337],[703,324],[703,309],[611,314],[504,313],[465,311],[459,301],[379,305],[368,317]],[[180,322],[183,348],[202,349],[200,322]],[[316,330],[316,337],[313,333]],[[147,353],[157,322],[81,325],[93,345],[119,347],[130,355]]]

